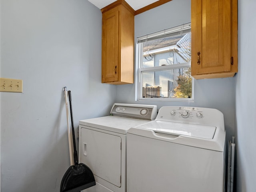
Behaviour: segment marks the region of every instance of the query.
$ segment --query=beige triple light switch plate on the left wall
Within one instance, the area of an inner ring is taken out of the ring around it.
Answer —
[[[0,92],[18,92],[22,93],[22,80],[0,78]]]

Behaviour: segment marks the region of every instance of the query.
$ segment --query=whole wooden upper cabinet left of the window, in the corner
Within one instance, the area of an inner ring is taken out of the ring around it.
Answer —
[[[124,0],[102,8],[102,83],[134,82],[134,10]]]

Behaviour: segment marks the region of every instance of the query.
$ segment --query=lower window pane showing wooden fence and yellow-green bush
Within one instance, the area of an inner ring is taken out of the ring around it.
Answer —
[[[191,98],[191,68],[142,72],[142,98]]]

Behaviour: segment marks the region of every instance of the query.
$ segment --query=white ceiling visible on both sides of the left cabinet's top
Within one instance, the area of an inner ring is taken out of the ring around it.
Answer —
[[[88,0],[99,9],[102,9],[116,0]],[[126,2],[136,11],[142,7],[152,4],[158,0],[126,0]]]

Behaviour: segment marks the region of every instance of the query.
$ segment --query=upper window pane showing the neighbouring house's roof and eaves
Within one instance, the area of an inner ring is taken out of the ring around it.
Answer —
[[[191,33],[142,43],[142,67],[173,65],[190,61]]]

